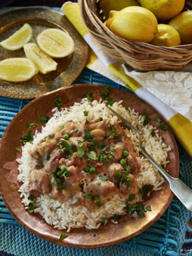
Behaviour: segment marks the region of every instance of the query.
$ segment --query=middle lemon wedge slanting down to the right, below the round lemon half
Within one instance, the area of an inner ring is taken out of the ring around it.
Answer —
[[[47,74],[50,71],[57,69],[55,62],[47,53],[43,52],[36,44],[29,42],[24,46],[26,56],[35,64],[37,69],[42,74]]]

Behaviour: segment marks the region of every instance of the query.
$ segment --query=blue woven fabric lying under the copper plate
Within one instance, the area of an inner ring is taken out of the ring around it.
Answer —
[[[96,72],[84,69],[74,83],[108,84],[129,91]],[[16,113],[30,100],[0,97],[0,136]],[[192,159],[183,148],[180,151],[180,178],[191,186]],[[192,217],[177,199],[174,199],[163,216],[144,233],[119,245],[99,249],[76,249],[58,246],[36,237],[9,214],[0,197],[0,250],[15,255],[180,255],[187,229]],[[189,230],[189,229],[188,229]],[[192,231],[192,230],[189,230]],[[188,255],[192,253],[188,252]],[[187,255],[185,254],[185,255]]]

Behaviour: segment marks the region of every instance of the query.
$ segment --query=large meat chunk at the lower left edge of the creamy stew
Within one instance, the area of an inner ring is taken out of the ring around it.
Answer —
[[[34,169],[29,179],[29,191],[34,197],[51,192],[51,181],[48,173],[44,169]]]

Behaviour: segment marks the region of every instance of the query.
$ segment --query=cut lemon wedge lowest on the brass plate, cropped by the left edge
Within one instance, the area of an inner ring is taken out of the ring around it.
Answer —
[[[23,82],[38,73],[30,59],[8,58],[0,61],[0,79],[9,82]]]

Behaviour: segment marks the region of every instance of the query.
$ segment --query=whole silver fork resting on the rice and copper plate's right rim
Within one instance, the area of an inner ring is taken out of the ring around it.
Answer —
[[[131,125],[127,120],[125,120],[121,115],[119,115],[116,111],[114,111],[110,106],[106,105],[106,107],[115,114],[127,127],[129,127],[137,136],[140,141],[139,132],[133,125]],[[167,179],[169,182],[169,187],[176,195],[176,197],[181,201],[181,203],[188,209],[192,211],[192,190],[187,187],[180,179],[173,178],[170,176],[156,161],[146,152],[145,148],[141,146],[139,143],[139,148],[141,153],[150,160],[151,163],[158,169],[158,171]]]

